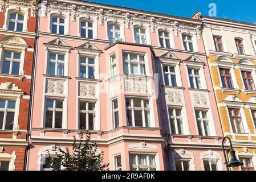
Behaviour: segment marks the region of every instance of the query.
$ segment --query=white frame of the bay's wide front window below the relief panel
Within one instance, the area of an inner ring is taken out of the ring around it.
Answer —
[[[128,117],[127,117],[127,126],[129,127],[137,127],[135,126],[135,110],[141,110],[142,111],[142,118],[143,118],[143,127],[147,127],[146,126],[146,121],[145,121],[145,111],[149,111],[150,113],[150,117],[149,117],[149,122],[148,122],[148,127],[153,127],[153,123],[152,123],[152,109],[151,109],[151,100],[150,99],[145,99],[145,98],[137,98],[137,97],[125,97],[125,103],[127,99],[131,99],[131,106],[125,106],[126,108],[126,115],[127,115],[127,110],[131,110],[132,111],[132,126],[129,126],[129,121],[128,121]],[[141,100],[141,107],[135,107],[133,104],[133,99],[139,99]],[[147,100],[149,102],[149,108],[148,107],[144,107],[144,100]]]

